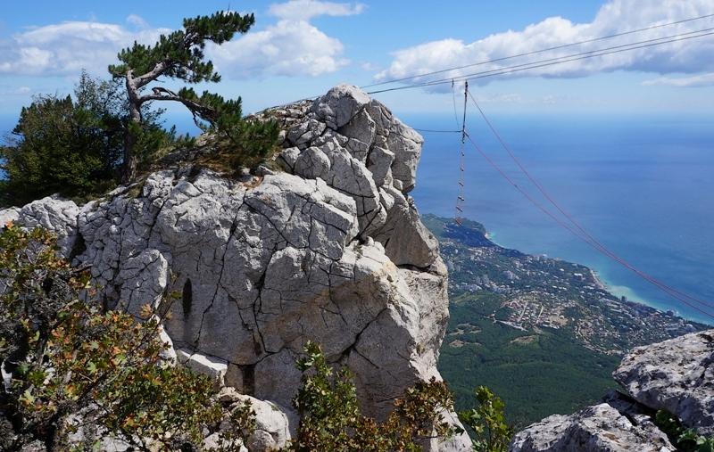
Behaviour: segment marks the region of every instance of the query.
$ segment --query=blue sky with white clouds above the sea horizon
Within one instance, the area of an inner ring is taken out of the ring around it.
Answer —
[[[33,95],[70,94],[82,70],[108,78],[122,48],[154,44],[184,17],[217,11],[253,13],[255,25],[224,45],[206,46],[222,81],[195,89],[241,96],[246,113],[343,82],[372,92],[439,80],[445,83],[374,96],[396,113],[453,111],[464,76],[668,39],[678,40],[472,76],[469,89],[488,111],[714,109],[714,35],[700,36],[714,32],[711,0],[4,0],[0,115],[19,115]],[[647,30],[628,33],[637,29]],[[544,51],[552,47],[560,48]],[[183,85],[167,79],[162,86]]]

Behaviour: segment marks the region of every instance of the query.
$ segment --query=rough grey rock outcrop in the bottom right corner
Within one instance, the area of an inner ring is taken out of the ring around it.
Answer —
[[[574,415],[552,415],[520,431],[510,452],[665,452],[677,448],[653,422],[657,410],[685,428],[714,433],[714,330],[633,349],[613,376],[612,392]]]

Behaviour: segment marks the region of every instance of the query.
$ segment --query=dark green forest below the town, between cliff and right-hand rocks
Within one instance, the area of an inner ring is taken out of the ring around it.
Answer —
[[[534,334],[494,323],[489,316],[503,300],[463,295],[450,303],[438,367],[456,393],[457,411],[474,406],[473,389],[484,385],[502,398],[506,421],[519,430],[548,415],[574,413],[617,388],[611,374],[619,357],[585,349],[565,330]]]

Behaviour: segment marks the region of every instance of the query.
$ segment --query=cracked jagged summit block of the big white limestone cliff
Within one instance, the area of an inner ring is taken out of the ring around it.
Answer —
[[[337,102],[335,95],[345,96],[345,90],[349,95]],[[349,105],[340,110],[342,126],[333,130],[328,124],[321,136],[287,148],[279,160],[295,175],[321,178],[351,196],[357,206],[359,236],[381,242],[396,265],[429,267],[438,256],[436,239],[421,225],[418,211],[404,194],[416,184],[423,139],[354,87],[336,86],[315,101],[311,111],[320,117],[316,112],[336,111],[341,102]],[[320,118],[327,118],[325,114]],[[303,118],[293,127],[294,135],[305,136],[303,130],[314,129],[314,122],[313,117]]]

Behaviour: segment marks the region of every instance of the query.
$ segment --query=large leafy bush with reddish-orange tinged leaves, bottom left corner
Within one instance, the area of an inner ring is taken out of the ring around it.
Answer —
[[[22,450],[101,447],[118,436],[138,450],[195,448],[203,429],[228,413],[210,399],[212,382],[160,357],[162,319],[103,312],[80,293],[86,274],[58,259],[56,239],[12,223],[0,235],[0,445]],[[253,428],[250,407],[232,413],[224,450],[237,450]],[[71,440],[81,431],[84,442]]]

